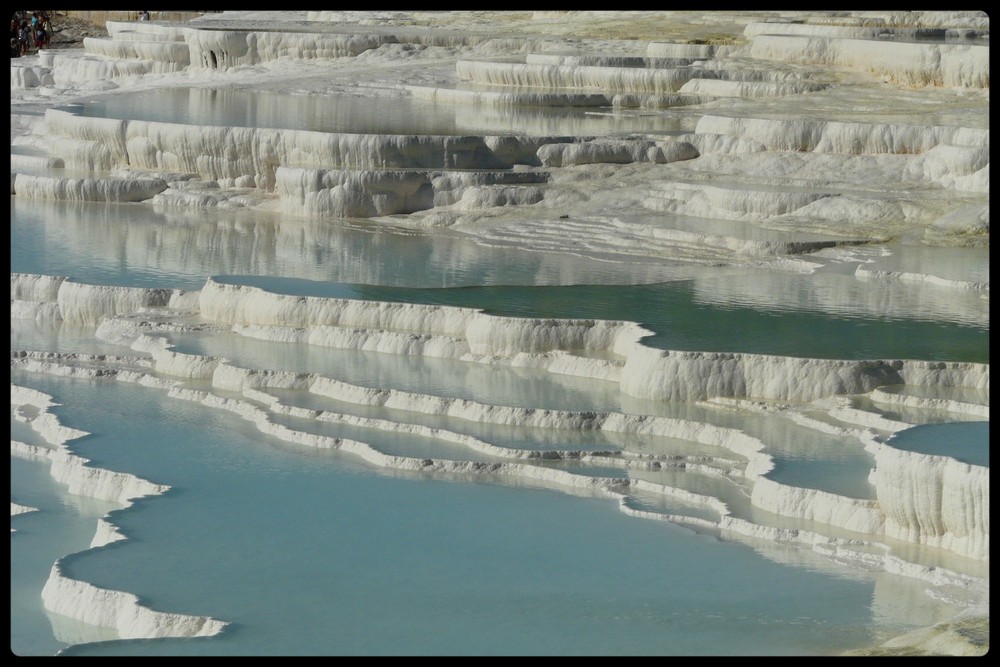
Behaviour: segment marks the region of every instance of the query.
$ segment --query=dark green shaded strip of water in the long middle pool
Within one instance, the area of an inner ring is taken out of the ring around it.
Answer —
[[[740,302],[702,303],[698,279],[649,285],[461,289],[342,285],[259,276],[220,281],[281,294],[482,308],[504,316],[638,321],[652,332],[643,341],[646,345],[669,350],[989,362],[988,328],[864,312],[845,316],[811,303],[767,309]]]

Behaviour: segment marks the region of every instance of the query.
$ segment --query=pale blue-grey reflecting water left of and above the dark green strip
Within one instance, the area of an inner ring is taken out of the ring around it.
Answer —
[[[12,197],[10,233],[12,271],[138,287],[199,289],[216,274],[418,287],[622,284],[682,275],[670,264],[484,248],[447,233],[394,232],[368,221],[158,213],[141,204]]]

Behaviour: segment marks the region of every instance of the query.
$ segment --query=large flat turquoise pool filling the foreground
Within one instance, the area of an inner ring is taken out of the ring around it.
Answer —
[[[60,419],[95,432],[76,453],[172,486],[113,513],[129,540],[66,558],[66,573],[232,623],[212,638],[71,655],[825,654],[945,611],[928,599],[885,618],[891,605],[873,596],[888,591],[870,575],[820,558],[788,567],[776,545],[719,542],[608,500],[380,474],[159,390],[12,380],[52,393]],[[170,426],[144,428],[154,420]],[[16,496],[24,480],[13,482]],[[21,537],[18,566],[37,566]],[[38,616],[40,600],[17,583]],[[891,595],[912,587],[920,599],[916,582],[896,585]]]

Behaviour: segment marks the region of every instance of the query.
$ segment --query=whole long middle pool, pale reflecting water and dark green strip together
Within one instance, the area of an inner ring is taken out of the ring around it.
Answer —
[[[96,284],[201,289],[208,276],[228,275],[282,293],[638,321],[655,334],[646,343],[662,348],[989,360],[989,309],[978,293],[850,272],[598,262],[372,223],[16,197],[11,248],[12,271]],[[961,250],[950,264],[983,258],[988,267],[986,251]]]

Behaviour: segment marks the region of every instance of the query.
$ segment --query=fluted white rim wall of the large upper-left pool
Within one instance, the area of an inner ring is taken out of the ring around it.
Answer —
[[[282,165],[342,169],[509,169],[537,163],[540,138],[325,133],[111,120],[48,110],[67,166],[247,179],[271,191]],[[550,140],[551,141],[551,140]],[[563,139],[565,141],[565,139]]]

